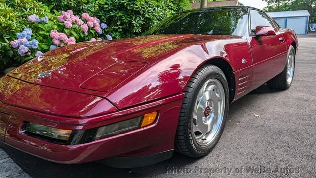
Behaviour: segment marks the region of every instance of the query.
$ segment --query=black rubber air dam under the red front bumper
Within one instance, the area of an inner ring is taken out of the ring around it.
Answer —
[[[101,164],[114,168],[137,168],[155,164],[172,157],[173,149],[157,154],[139,156],[139,157],[122,157],[116,156],[98,161]]]

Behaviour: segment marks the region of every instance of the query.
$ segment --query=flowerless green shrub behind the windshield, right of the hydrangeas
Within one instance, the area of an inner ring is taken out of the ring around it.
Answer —
[[[53,9],[98,17],[114,38],[140,35],[169,15],[189,8],[189,0],[39,0]]]

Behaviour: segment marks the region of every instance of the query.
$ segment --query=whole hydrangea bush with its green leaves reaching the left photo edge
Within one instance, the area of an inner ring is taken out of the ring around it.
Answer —
[[[60,46],[112,39],[106,23],[88,13],[58,12],[33,0],[0,2],[0,71]]]

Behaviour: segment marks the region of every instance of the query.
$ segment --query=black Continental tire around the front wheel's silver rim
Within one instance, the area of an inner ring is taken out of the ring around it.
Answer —
[[[225,110],[223,114],[222,125],[220,126],[219,134],[211,144],[207,146],[200,146],[196,139],[193,137],[194,133],[192,128],[193,109],[197,94],[202,88],[203,84],[209,79],[217,79],[222,84],[225,91]],[[185,97],[182,102],[180,117],[177,127],[175,138],[175,151],[190,156],[202,157],[212,151],[217,142],[219,141],[226,122],[229,108],[229,88],[225,75],[221,69],[214,65],[201,66],[192,76],[189,84],[185,90]]]

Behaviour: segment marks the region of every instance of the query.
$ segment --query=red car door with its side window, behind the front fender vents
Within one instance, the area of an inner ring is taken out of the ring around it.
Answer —
[[[250,45],[254,64],[251,88],[255,89],[283,71],[287,49],[282,32],[278,31],[270,18],[262,11],[250,9]],[[255,36],[257,26],[276,29],[276,35]]]

